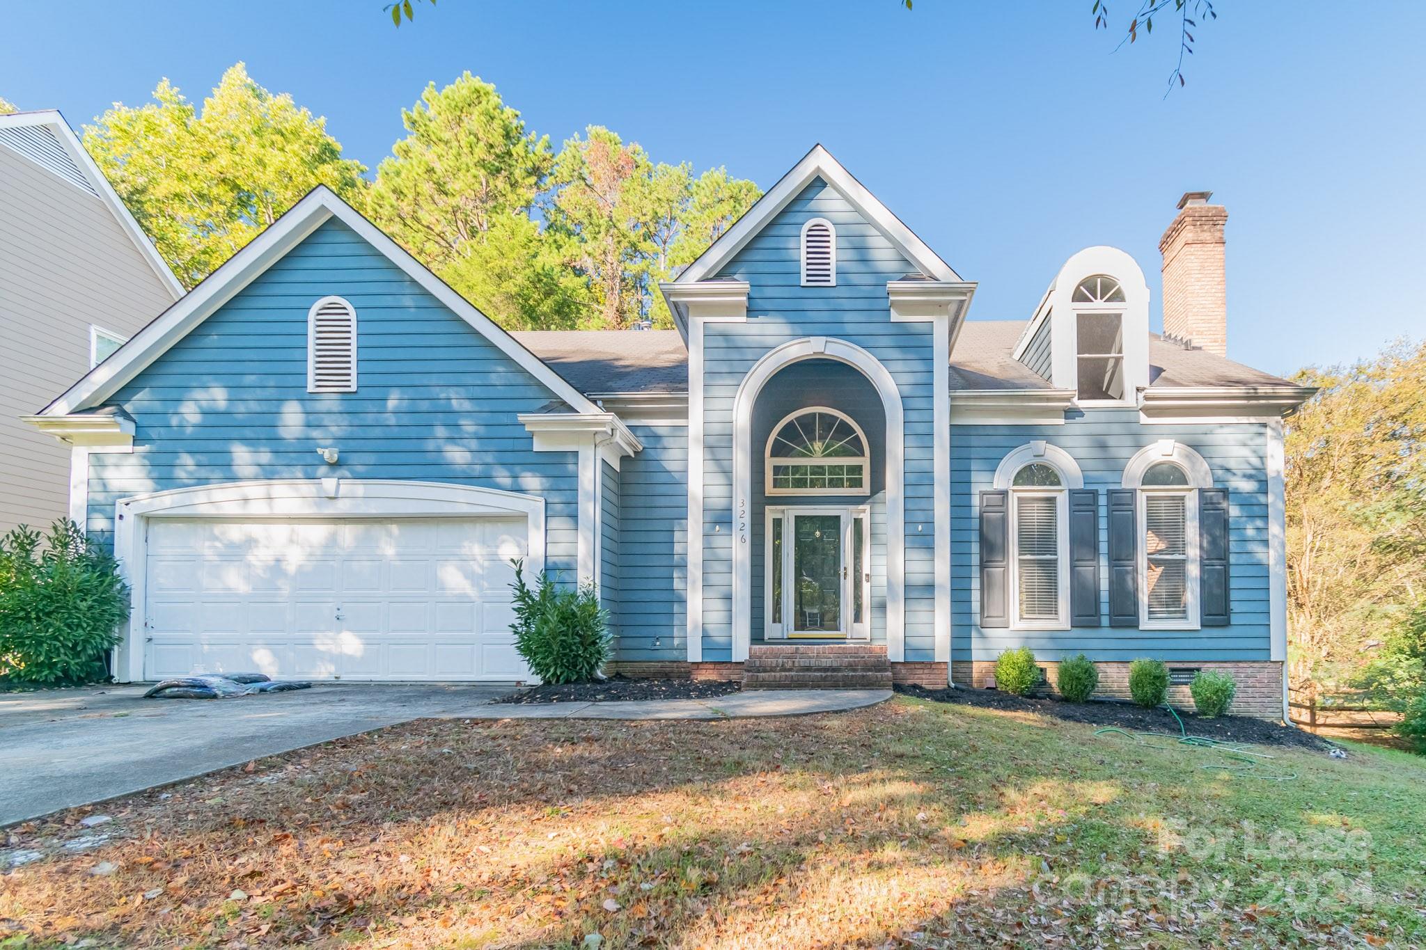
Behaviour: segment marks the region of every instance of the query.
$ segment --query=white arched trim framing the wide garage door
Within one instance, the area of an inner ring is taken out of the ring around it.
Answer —
[[[525,564],[530,574],[539,574],[545,570],[545,499],[518,491],[439,481],[275,479],[120,499],[114,506],[114,557],[130,587],[131,610],[130,624],[121,631],[116,675],[130,682],[144,678],[144,649],[138,637],[147,621],[150,518],[419,518],[512,514],[525,516],[529,546]]]

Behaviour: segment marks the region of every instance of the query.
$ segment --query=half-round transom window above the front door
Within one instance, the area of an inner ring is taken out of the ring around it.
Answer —
[[[851,416],[814,406],[773,426],[767,494],[870,494],[867,437]]]

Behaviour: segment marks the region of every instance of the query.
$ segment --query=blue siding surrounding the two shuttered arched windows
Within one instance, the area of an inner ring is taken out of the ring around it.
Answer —
[[[1040,659],[1084,651],[1091,659],[1268,659],[1268,480],[1266,432],[1261,424],[1145,426],[1134,409],[1071,413],[1064,426],[951,426],[951,655],[995,659],[1030,647]],[[1192,447],[1208,463],[1214,484],[1228,489],[1231,627],[1198,631],[1098,627],[1067,631],[981,630],[978,493],[992,487],[1000,460],[1027,442],[1044,439],[1074,456],[1087,489],[1099,494],[1099,612],[1108,624],[1107,489],[1118,489],[1124,466],[1144,446],[1164,439]]]

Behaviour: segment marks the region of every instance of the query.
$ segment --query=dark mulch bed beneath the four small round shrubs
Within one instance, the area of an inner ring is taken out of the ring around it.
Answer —
[[[934,702],[954,702],[963,706],[981,706],[984,709],[1010,709],[1015,712],[1038,712],[1040,715],[1068,719],[1070,722],[1085,722],[1097,726],[1118,726],[1131,732],[1165,732],[1178,735],[1178,721],[1166,709],[1145,709],[1128,702],[1065,702],[1064,699],[1037,699],[1031,696],[1017,696],[998,689],[925,689],[924,687],[896,687],[897,692],[908,696],[931,699]],[[1251,716],[1219,716],[1216,719],[1201,719],[1195,714],[1179,709],[1184,726],[1189,735],[1206,736],[1209,739],[1225,739],[1236,742],[1256,742],[1259,745],[1278,745],[1313,752],[1326,752],[1332,743],[1320,736],[1315,736],[1303,729],[1253,719]]]

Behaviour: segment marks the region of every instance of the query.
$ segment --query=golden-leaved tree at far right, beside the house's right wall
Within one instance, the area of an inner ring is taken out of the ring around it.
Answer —
[[[1298,382],[1319,392],[1288,419],[1288,631],[1315,688],[1426,630],[1426,343]]]

